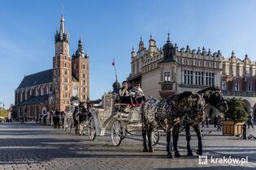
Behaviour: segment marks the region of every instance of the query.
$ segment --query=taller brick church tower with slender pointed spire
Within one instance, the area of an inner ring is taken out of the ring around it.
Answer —
[[[55,33],[55,55],[53,58],[54,109],[65,111],[72,96],[72,62],[69,56],[69,34],[61,15],[59,31]]]

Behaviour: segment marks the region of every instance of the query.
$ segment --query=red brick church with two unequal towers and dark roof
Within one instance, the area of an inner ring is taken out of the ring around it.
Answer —
[[[63,15],[56,30],[53,68],[24,77],[15,90],[14,117],[33,119],[48,110],[64,111],[72,96],[89,99],[89,56],[78,41],[76,53],[69,54],[70,36]]]

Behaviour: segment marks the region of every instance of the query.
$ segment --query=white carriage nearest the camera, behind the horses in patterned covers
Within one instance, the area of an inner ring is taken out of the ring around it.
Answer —
[[[105,130],[111,130],[111,141],[119,146],[122,140],[131,134],[140,134],[142,130],[141,106],[125,110],[128,104],[121,104],[116,94],[105,94],[101,106],[91,108],[92,113],[98,117],[98,130],[101,135]],[[152,144],[157,144],[161,130],[154,130],[151,136]]]

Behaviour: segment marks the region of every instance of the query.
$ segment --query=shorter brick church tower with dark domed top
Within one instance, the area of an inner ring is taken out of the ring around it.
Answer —
[[[78,40],[76,53],[72,55],[72,73],[79,81],[77,96],[80,101],[89,99],[89,56],[84,51],[83,40]]]

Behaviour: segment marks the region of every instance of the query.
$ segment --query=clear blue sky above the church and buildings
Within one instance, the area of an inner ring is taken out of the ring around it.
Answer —
[[[115,57],[119,82],[130,73],[132,46],[140,36],[148,46],[150,33],[162,47],[171,42],[191,49],[205,46],[230,57],[256,56],[256,1],[249,0],[63,0],[71,54],[81,36],[90,57],[90,96],[111,90]],[[60,0],[0,1],[0,101],[14,103],[24,74],[52,68],[54,32],[59,28]]]

